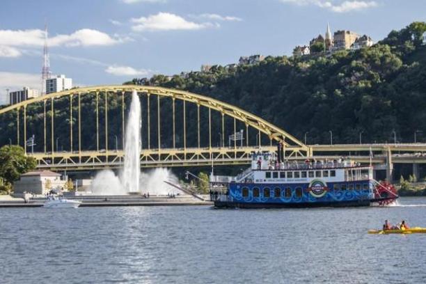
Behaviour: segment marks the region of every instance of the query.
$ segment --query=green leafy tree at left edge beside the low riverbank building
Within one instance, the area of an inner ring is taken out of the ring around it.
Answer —
[[[18,145],[4,145],[0,148],[0,177],[6,184],[13,184],[19,177],[36,168],[36,159],[27,157]]]

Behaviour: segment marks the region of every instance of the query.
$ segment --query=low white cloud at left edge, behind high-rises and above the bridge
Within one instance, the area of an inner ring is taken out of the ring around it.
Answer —
[[[9,91],[21,90],[23,87],[35,88],[40,90],[41,75],[18,72],[1,72],[0,71],[0,104],[7,104],[8,97],[6,88]]]

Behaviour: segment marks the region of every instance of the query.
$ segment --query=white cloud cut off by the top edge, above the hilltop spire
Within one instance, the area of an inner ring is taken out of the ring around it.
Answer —
[[[281,0],[284,3],[291,3],[298,6],[313,5],[319,8],[326,8],[336,13],[347,13],[356,10],[363,10],[377,6],[376,1],[357,0]]]

